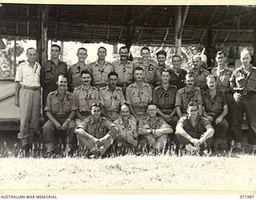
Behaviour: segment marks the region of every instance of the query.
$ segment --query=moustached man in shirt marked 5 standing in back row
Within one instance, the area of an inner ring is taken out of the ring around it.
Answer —
[[[134,62],[128,60],[129,50],[122,46],[119,50],[120,60],[113,62],[114,71],[118,74],[118,85],[125,95],[126,87],[133,82]]]

